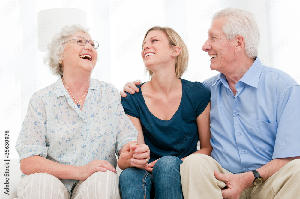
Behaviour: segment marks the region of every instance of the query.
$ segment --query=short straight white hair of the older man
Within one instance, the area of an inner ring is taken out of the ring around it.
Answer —
[[[226,18],[223,33],[228,41],[241,35],[245,38],[245,52],[247,57],[256,58],[260,42],[260,31],[253,13],[233,7],[228,7],[214,14],[212,20]]]

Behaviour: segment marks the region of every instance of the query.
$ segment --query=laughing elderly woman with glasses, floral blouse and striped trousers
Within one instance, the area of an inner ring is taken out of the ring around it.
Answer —
[[[91,78],[99,44],[87,31],[64,26],[48,45],[44,62],[60,77],[30,99],[16,143],[19,198],[120,198],[115,153],[122,168],[137,158],[146,167],[149,148],[137,146],[119,91]]]

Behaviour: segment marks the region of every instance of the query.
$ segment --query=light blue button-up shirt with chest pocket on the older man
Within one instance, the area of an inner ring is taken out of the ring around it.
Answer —
[[[300,156],[300,88],[259,58],[235,84],[220,73],[202,82],[211,91],[211,156],[232,173],[272,159]]]

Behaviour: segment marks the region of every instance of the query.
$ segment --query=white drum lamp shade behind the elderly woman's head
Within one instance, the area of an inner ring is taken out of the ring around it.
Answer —
[[[64,25],[86,25],[86,12],[75,8],[55,8],[38,12],[38,49],[47,52],[47,45]]]

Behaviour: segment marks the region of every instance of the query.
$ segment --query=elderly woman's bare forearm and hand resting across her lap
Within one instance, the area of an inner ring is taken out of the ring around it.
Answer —
[[[58,179],[85,180],[96,171],[113,171],[116,169],[107,161],[93,160],[84,166],[62,165],[41,156],[35,155],[20,161],[20,168],[24,174],[47,173]]]

